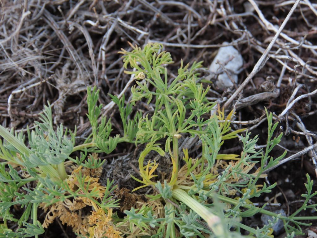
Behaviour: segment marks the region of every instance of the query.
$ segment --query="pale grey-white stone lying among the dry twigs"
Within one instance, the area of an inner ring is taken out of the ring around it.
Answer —
[[[237,72],[243,65],[243,58],[236,48],[229,45],[219,48],[217,56],[212,61],[209,70],[216,74],[216,85],[220,90],[226,90],[227,88],[232,87],[233,83],[218,62],[223,65],[231,79],[237,83]]]

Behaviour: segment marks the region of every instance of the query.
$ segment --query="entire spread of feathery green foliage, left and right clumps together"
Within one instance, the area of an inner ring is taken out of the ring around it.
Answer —
[[[247,132],[241,137],[241,155],[219,154],[224,141],[237,137],[244,129],[232,130],[233,112],[225,117],[216,102],[208,101],[210,86],[204,88],[203,83],[198,83],[197,69],[202,67],[202,62],[194,62],[191,67],[181,62],[178,75],[170,80],[165,66],[173,61],[170,53],[162,51],[162,45],[150,43],[144,49],[131,46],[131,52],[120,53],[124,54],[125,69],[128,66],[134,69],[125,71],[135,75],[132,99],[126,103],[124,95],[120,99],[111,96],[119,108],[123,135],[111,134],[111,120],[101,116],[102,105],[97,105],[99,90],[96,88],[87,90],[87,116],[92,134],[83,144],[75,146],[75,132],[64,131],[62,125],[53,129],[50,107],[45,107],[35,130],[27,129],[28,147],[23,133],[14,134],[0,126],[0,135],[5,139],[0,140],[0,159],[4,160],[0,166],[0,217],[3,219],[0,233],[4,236],[0,234],[0,237],[38,237],[44,232],[37,220],[39,204],[53,209],[54,204],[57,206],[70,198],[85,199],[94,209],[89,223],[94,221],[95,225],[88,228],[87,236],[81,233],[84,237],[101,237],[100,234],[108,238],[125,237],[137,233],[133,237],[241,237],[246,234],[268,238],[278,220],[283,221],[287,237],[294,237],[302,233],[302,226],[310,225],[302,220],[317,219],[297,216],[307,208],[316,210],[316,204],[308,205],[317,194],[312,192],[313,182],[308,175],[307,194],[302,195],[305,202],[288,217],[251,202],[276,186],[261,184],[261,178],[266,169],[275,166],[286,154],[278,158],[270,156],[282,137],[282,134],[274,137],[278,123],[273,124],[272,113],[266,111],[268,142],[264,150],[255,149],[258,137],[250,138]],[[133,115],[133,106],[142,100],[153,103],[154,110],[143,116],[139,112]],[[188,136],[201,142],[199,158],[191,158],[189,148],[180,151],[180,140]],[[104,161],[93,156],[86,159],[88,152],[111,153],[122,142],[144,144],[138,159],[140,177],[133,177],[141,185],[134,190],[150,186],[155,192],[148,195],[149,201],[141,207],[125,210],[124,219],[113,215],[111,223],[112,208],[118,206],[111,195],[113,182],[108,180],[107,187],[95,186],[89,190],[93,180],[81,173],[69,175],[65,163],[71,162],[80,166],[79,169],[98,169]],[[71,154],[75,151],[81,152],[74,159]],[[159,164],[150,158],[153,152],[170,158],[171,174],[165,181],[157,180]],[[258,163],[256,171],[252,170],[255,163]],[[220,168],[223,168],[221,173]],[[74,177],[76,183],[71,187]],[[154,211],[153,202],[162,205],[161,212]],[[12,213],[14,206],[24,209],[20,218]],[[241,223],[243,217],[258,213],[272,216],[272,221],[256,229]],[[18,225],[15,231],[8,228],[12,222]]]

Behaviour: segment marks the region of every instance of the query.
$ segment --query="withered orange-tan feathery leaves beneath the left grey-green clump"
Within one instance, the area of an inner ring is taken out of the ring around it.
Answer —
[[[105,187],[99,184],[99,178],[91,177],[91,174],[96,174],[96,170],[88,171],[89,169],[77,166],[71,175],[67,178],[66,182],[75,192],[78,189],[78,175],[86,173],[84,183],[87,187],[84,190],[92,191],[93,189],[99,191],[96,197],[93,197],[95,201],[102,199],[105,192]],[[90,175],[88,175],[90,174]],[[79,191],[79,194],[85,194],[84,191]],[[53,223],[54,219],[58,217],[62,224],[66,224],[73,228],[74,233],[81,234],[85,237],[100,238],[105,235],[109,238],[119,238],[120,232],[117,231],[112,220],[112,209],[109,208],[105,212],[100,208],[94,200],[87,197],[77,196],[73,199],[65,199],[63,202],[57,202],[50,206],[46,206],[44,203],[40,203],[40,208],[46,212],[45,219],[43,221],[43,228],[48,228],[49,224]],[[82,210],[89,206],[91,208],[91,214]]]

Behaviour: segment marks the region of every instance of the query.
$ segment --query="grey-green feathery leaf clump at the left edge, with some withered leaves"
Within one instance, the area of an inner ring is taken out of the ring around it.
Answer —
[[[76,189],[69,187],[65,160],[88,169],[99,168],[104,161],[91,157],[85,160],[87,149],[80,159],[69,156],[74,152],[75,132],[64,130],[62,125],[53,129],[50,106],[45,106],[40,119],[33,131],[27,129],[29,148],[24,145],[23,132],[14,134],[11,130],[10,133],[0,125],[0,135],[5,138],[3,142],[0,140],[0,159],[4,160],[0,163],[0,218],[3,220],[0,237],[38,237],[43,234],[44,229],[37,219],[40,203],[47,207],[80,197],[91,201],[91,205],[96,204],[105,213],[107,209],[117,207],[117,201],[110,195],[114,188],[110,188],[112,182],[109,180],[107,187],[102,187],[102,195],[98,186],[88,188],[90,181],[81,173],[74,176]],[[35,188],[29,188],[31,184],[35,184]],[[16,209],[23,211],[20,217],[11,213]],[[8,222],[16,222],[17,229],[9,229]]]

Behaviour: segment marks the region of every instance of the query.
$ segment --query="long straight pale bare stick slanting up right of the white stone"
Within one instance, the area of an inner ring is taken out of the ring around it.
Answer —
[[[275,36],[273,37],[272,41],[264,51],[263,55],[260,57],[254,68],[252,69],[252,72],[249,74],[249,76],[243,81],[243,83],[240,85],[240,87],[232,94],[232,96],[228,99],[228,101],[223,105],[224,108],[228,107],[230,103],[235,99],[235,97],[242,91],[242,89],[250,82],[250,80],[256,75],[257,72],[259,72],[263,66],[266,63],[266,59],[268,56],[269,51],[272,49],[274,43],[276,42],[277,38],[281,34],[281,31],[284,29],[286,23],[288,22],[289,18],[292,16],[294,10],[296,9],[297,5],[299,4],[301,0],[296,0],[294,3],[292,9],[287,14],[287,17],[281,24],[279,30],[276,32]]]

